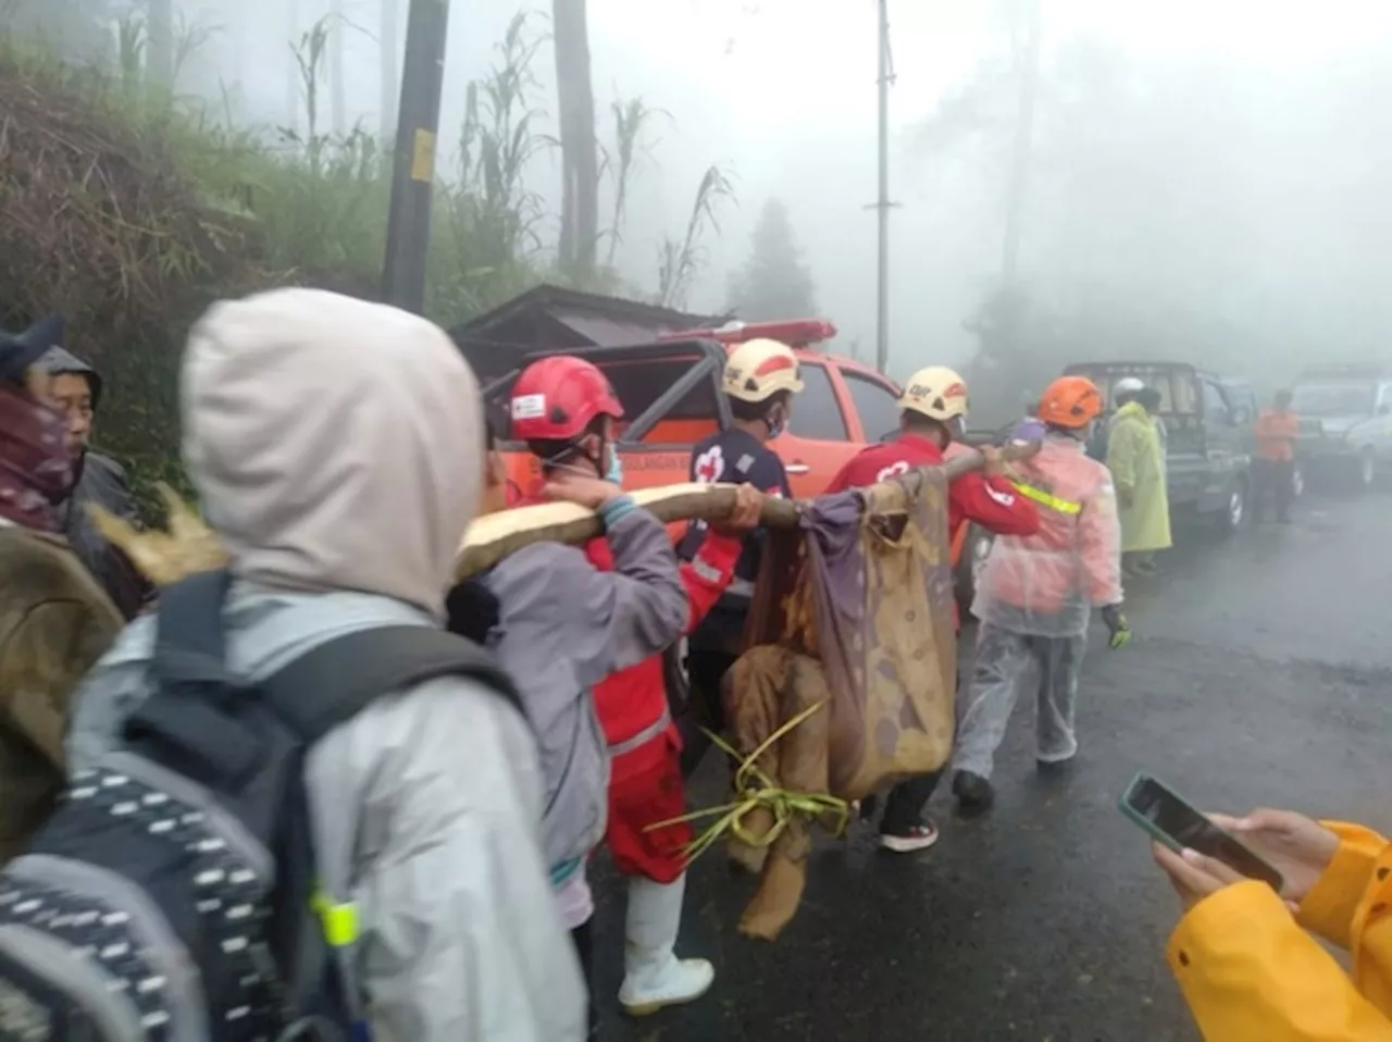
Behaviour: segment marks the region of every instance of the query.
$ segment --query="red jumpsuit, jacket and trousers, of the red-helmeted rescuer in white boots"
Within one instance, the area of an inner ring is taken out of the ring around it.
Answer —
[[[743,542],[711,531],[696,560],[681,566],[690,600],[686,632],[704,619],[735,574]],[[601,571],[614,567],[604,539],[585,547],[590,564]],[[624,875],[640,875],[671,883],[686,866],[692,841],[688,822],[647,830],[647,826],[686,814],[682,786],[682,740],[672,723],[660,655],[611,673],[594,688],[594,710],[612,756],[610,814],[606,840],[614,864]]]

